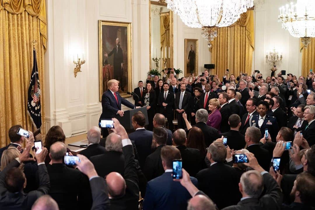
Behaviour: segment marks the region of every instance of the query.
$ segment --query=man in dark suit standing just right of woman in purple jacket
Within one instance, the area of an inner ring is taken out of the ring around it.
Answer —
[[[229,95],[226,92],[222,92],[219,95],[219,101],[221,107],[219,108],[221,113],[221,125],[220,130],[221,132],[227,132],[230,130],[230,125],[228,123],[229,117],[231,115],[231,108],[229,106]]]

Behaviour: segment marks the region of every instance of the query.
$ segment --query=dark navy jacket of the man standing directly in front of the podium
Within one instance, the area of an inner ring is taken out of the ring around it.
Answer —
[[[146,129],[138,129],[128,135],[129,139],[135,141],[139,155],[139,165],[143,168],[146,157],[152,153],[151,144],[153,132]]]

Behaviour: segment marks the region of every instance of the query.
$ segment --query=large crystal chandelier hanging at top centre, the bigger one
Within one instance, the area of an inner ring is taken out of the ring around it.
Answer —
[[[240,15],[253,7],[254,0],[165,0],[167,8],[178,14],[186,26],[202,28],[210,41],[218,36],[217,28],[232,25]]]

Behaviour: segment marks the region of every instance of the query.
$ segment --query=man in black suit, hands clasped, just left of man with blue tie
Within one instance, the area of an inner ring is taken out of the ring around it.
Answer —
[[[164,91],[158,97],[158,105],[160,106],[160,113],[167,118],[169,129],[173,131],[173,105],[174,105],[174,94],[169,89],[169,84],[163,84]]]

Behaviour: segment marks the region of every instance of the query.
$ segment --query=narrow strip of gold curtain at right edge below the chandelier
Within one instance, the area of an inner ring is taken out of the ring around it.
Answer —
[[[301,43],[301,51],[302,75],[306,77],[310,73],[310,69],[315,69],[315,38],[311,38],[311,44],[307,48],[304,48],[304,45]]]

